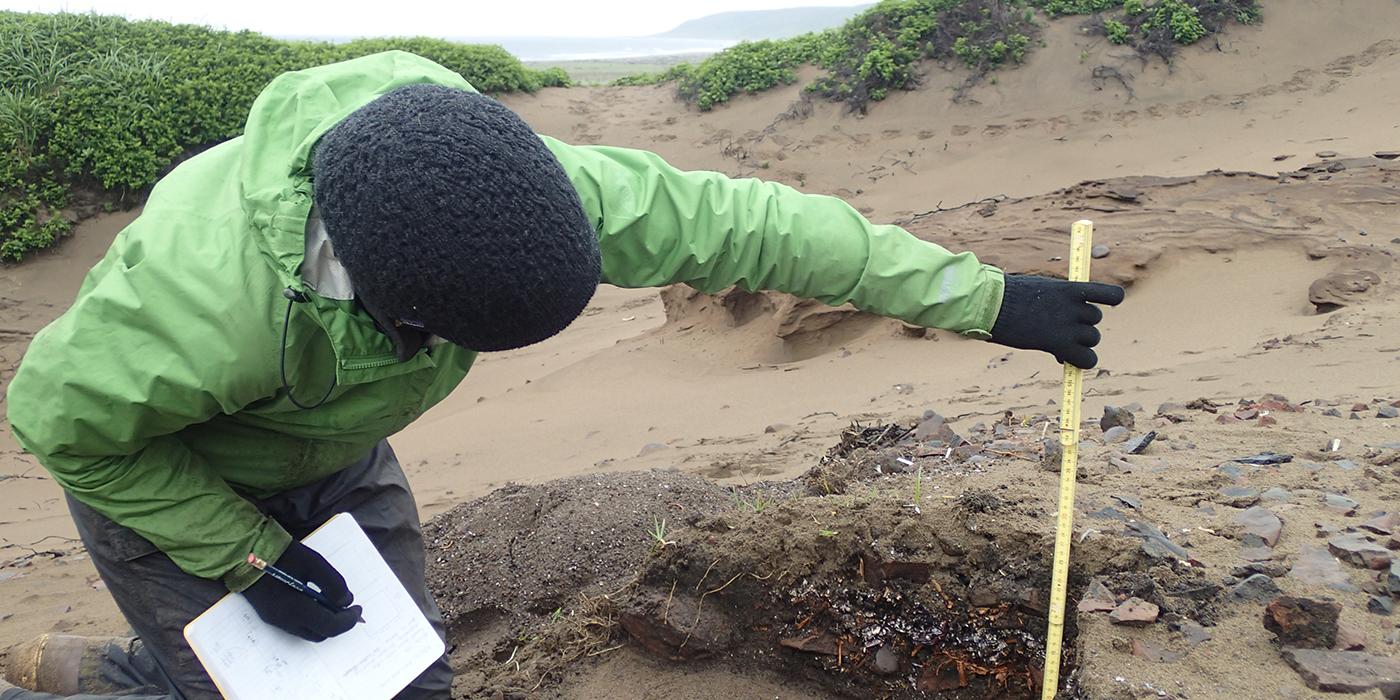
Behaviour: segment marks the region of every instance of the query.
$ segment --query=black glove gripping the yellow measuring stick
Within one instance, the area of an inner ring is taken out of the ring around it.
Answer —
[[[1064,281],[1029,274],[1008,274],[991,342],[1021,350],[1044,350],[1061,363],[1082,370],[1099,364],[1103,311],[1093,304],[1117,307],[1123,287],[1096,281]]]

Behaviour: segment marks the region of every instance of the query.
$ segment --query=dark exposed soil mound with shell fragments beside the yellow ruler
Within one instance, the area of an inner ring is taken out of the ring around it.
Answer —
[[[776,673],[812,696],[1039,696],[1053,494],[939,494],[931,475],[997,462],[930,452],[920,437],[909,424],[853,427],[791,483],[575,477],[435,518],[430,581],[458,697],[570,697],[580,664],[622,647]],[[904,462],[917,470],[882,466]],[[1183,594],[1214,595],[1197,575],[1137,538],[1103,535],[1077,546],[1070,601],[1105,577],[1168,615],[1208,619],[1208,601]],[[1067,624],[1072,694],[1072,613]]]

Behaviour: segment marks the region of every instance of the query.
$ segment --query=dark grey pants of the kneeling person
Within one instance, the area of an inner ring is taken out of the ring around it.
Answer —
[[[316,483],[266,500],[251,498],[259,510],[301,539],[332,515],[349,512],[384,554],[389,568],[419,603],[433,629],[444,637],[442,613],[423,577],[423,532],[419,511],[399,461],[388,442],[379,442],[358,462]],[[185,643],[185,624],[228,594],[224,584],[181,571],[174,561],[140,535],[69,498],[78,535],[98,574],[116,599],[126,622],[141,640],[132,654],[108,654],[102,675],[122,679],[140,697],[203,700],[220,697],[213,680]],[[211,514],[213,515],[213,514]],[[447,699],[452,669],[447,655],[399,693],[399,699]],[[0,700],[48,700],[55,696],[27,690],[0,694]],[[118,696],[78,696],[101,700]]]

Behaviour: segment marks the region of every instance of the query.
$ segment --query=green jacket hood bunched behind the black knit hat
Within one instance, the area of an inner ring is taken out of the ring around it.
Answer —
[[[475,88],[462,76],[402,50],[375,53],[274,78],[248,113],[238,181],[258,246],[283,286],[307,291],[301,263],[311,214],[311,151],[330,127],[398,87]]]

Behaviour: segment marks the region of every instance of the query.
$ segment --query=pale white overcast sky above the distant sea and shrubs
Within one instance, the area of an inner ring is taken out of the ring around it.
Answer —
[[[21,11],[97,11],[297,36],[645,36],[732,10],[854,6],[862,0],[0,0]]]

